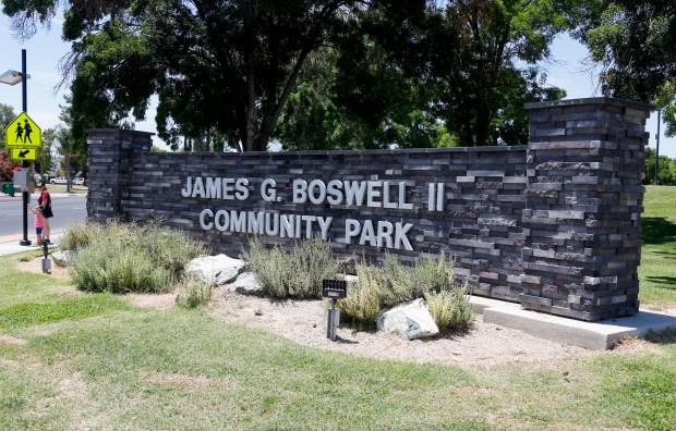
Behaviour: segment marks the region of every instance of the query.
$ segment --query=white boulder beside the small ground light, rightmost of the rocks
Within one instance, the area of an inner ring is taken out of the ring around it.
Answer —
[[[377,328],[378,331],[394,332],[407,340],[422,338],[439,333],[439,328],[423,298],[381,312],[377,318]]]

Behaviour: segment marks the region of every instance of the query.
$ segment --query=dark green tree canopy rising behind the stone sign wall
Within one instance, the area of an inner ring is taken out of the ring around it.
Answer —
[[[579,16],[568,0],[2,3],[24,36],[65,7],[74,148],[154,95],[173,148],[523,144],[523,103],[564,96],[536,63]]]

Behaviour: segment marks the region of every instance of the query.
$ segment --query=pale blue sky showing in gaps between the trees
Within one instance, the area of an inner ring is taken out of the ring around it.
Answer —
[[[55,20],[51,29],[40,28],[29,40],[20,42],[12,37],[10,19],[0,13],[0,73],[7,70],[21,71],[21,50],[26,50],[27,73],[31,75],[27,87],[27,113],[43,130],[53,128],[59,122],[63,104],[63,95],[68,89],[56,91],[59,84],[59,60],[70,51],[70,44],[61,40],[60,20]],[[547,82],[564,88],[568,99],[600,96],[594,73],[583,64],[587,48],[568,36],[559,36],[552,46],[553,62],[544,64]],[[0,103],[14,107],[17,114],[22,107],[21,84],[9,86],[0,84]],[[146,112],[146,121],[136,122],[136,130],[156,133],[156,103],[152,103]],[[649,146],[655,148],[657,133],[657,113],[653,112],[648,120],[647,131],[650,132]],[[676,158],[676,137],[664,136],[661,127],[660,155]],[[155,146],[167,148],[155,136]]]

